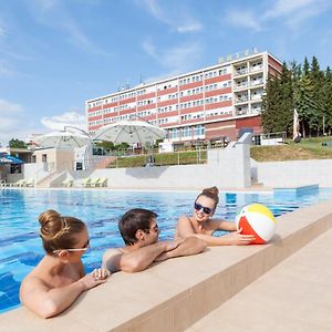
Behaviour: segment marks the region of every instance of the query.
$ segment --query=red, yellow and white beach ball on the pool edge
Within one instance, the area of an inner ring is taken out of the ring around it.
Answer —
[[[242,228],[241,234],[253,235],[252,245],[268,242],[274,235],[277,220],[273,214],[262,204],[249,204],[240,210],[236,217],[237,229]]]

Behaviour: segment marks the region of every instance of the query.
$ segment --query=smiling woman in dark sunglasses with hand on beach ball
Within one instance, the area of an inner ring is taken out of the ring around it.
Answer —
[[[241,246],[255,240],[251,235],[241,235],[236,224],[222,219],[212,218],[219,203],[217,187],[204,189],[196,198],[194,214],[181,216],[177,220],[175,238],[197,237],[205,240],[208,246]],[[226,236],[214,237],[216,230],[230,231]]]

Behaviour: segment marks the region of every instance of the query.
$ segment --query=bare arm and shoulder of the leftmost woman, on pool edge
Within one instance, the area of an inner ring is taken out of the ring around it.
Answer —
[[[21,302],[42,318],[51,318],[66,308],[85,290],[104,283],[107,271],[95,270],[71,284],[50,289],[37,277],[28,277],[20,289]]]

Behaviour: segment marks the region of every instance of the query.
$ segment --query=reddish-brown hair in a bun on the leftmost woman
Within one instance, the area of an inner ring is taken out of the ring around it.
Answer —
[[[75,235],[85,229],[85,224],[73,217],[63,217],[54,210],[46,210],[39,216],[40,237],[48,253],[54,250],[73,248]]]

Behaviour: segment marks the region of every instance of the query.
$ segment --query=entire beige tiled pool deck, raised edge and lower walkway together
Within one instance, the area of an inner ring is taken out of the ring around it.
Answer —
[[[3,313],[1,330],[194,332],[214,331],[215,325],[215,331],[266,331],[274,322],[277,330],[294,331],[302,322],[301,331],[324,331],[331,325],[331,227],[332,200],[301,208],[278,217],[269,245],[209,248],[139,273],[118,272],[56,318],[42,320],[24,308]],[[255,309],[264,310],[266,318]],[[281,310],[288,313],[284,321]]]

